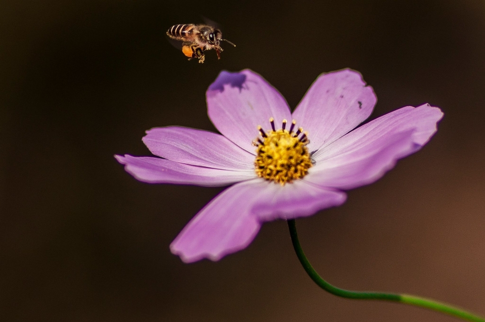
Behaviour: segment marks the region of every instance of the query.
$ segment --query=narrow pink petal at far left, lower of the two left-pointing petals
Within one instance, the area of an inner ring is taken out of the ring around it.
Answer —
[[[133,157],[115,155],[125,165],[126,172],[136,179],[149,183],[195,184],[202,186],[224,186],[253,179],[254,170],[231,171],[205,168],[154,157]]]

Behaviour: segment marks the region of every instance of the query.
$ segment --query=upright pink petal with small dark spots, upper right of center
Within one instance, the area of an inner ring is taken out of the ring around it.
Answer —
[[[316,151],[367,119],[376,101],[362,75],[345,69],[320,75],[298,104],[293,118],[308,131],[309,150]]]

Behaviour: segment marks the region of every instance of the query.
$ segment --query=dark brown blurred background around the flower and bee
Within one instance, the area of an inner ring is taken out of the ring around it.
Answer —
[[[173,24],[219,22],[222,59],[187,61]],[[155,126],[215,131],[205,91],[251,68],[295,107],[317,75],[360,71],[371,118],[429,102],[439,132],[339,208],[297,221],[319,272],[485,315],[485,2],[0,2],[0,320],[454,321],[341,299],[305,275],[285,222],[183,264],[169,244],[222,188],[136,181]]]

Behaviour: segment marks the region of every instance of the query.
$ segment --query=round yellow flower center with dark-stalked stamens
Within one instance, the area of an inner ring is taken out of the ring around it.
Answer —
[[[257,156],[254,161],[256,174],[281,185],[303,178],[312,166],[312,159],[306,147],[310,143],[308,133],[303,132],[301,127],[293,132],[295,120],[292,121],[289,130],[285,130],[285,119],[281,130],[275,130],[272,117],[269,121],[272,131],[265,132],[261,126],[258,126],[261,137],[253,142],[257,146]]]

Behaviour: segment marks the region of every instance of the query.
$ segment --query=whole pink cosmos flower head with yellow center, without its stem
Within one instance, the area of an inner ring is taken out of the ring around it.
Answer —
[[[150,183],[225,186],[170,245],[184,262],[213,261],[247,247],[261,224],[342,205],[343,190],[379,179],[437,131],[442,111],[407,106],[352,131],[376,97],[352,70],[320,75],[295,111],[260,75],[221,72],[207,91],[222,134],[167,126],[147,131],[158,157],[115,156]]]

